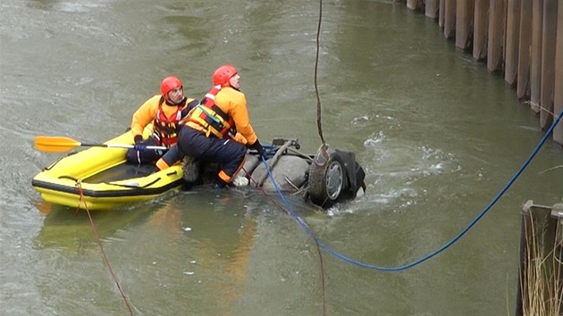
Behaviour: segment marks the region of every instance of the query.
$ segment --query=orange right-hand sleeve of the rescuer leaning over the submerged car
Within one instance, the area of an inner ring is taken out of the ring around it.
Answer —
[[[247,138],[248,145],[256,143],[256,133],[252,125],[250,125],[250,118],[248,117],[247,98],[243,93],[231,87],[223,87],[215,96],[215,104],[223,112],[229,113],[232,121],[235,122],[237,131],[240,135]]]

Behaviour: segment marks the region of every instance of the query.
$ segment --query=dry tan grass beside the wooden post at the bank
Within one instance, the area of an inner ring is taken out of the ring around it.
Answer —
[[[559,225],[558,225],[559,226]],[[534,216],[525,220],[526,245],[524,273],[521,273],[522,315],[561,315],[561,262],[559,245],[545,249],[542,232],[535,231]]]

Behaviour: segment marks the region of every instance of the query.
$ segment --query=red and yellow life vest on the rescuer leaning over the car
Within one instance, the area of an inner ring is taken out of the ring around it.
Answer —
[[[230,137],[237,134],[234,121],[229,114],[223,112],[215,104],[215,96],[221,91],[221,86],[214,86],[207,92],[206,97],[190,112],[188,121],[197,123],[201,131],[209,137]]]

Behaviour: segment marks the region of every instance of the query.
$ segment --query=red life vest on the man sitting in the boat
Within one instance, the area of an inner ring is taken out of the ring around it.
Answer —
[[[178,105],[176,112],[172,113],[170,117],[166,117],[164,114],[163,103],[164,97],[158,103],[158,111],[153,121],[153,138],[157,146],[170,147],[176,144],[178,140],[178,133],[181,129],[179,122],[182,119],[181,110],[184,107],[184,102]]]

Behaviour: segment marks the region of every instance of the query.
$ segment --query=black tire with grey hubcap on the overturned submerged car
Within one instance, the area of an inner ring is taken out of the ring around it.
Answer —
[[[348,187],[348,177],[340,154],[330,153],[324,165],[311,163],[309,169],[309,197],[313,204],[329,208],[338,202]]]

